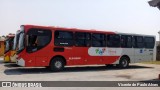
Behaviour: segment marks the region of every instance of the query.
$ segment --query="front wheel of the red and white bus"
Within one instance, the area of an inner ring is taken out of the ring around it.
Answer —
[[[55,57],[52,59],[50,63],[50,70],[51,71],[61,71],[64,68],[64,60],[61,57]]]

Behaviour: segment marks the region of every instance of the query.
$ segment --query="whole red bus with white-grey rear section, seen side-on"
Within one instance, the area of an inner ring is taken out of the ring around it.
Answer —
[[[155,36],[22,25],[17,64],[60,71],[69,65],[117,64],[155,59]]]

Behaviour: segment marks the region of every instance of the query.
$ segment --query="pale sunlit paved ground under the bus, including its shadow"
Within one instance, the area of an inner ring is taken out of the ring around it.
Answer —
[[[67,67],[62,72],[52,72],[43,67],[25,68],[14,63],[3,63],[0,58],[0,81],[148,81],[157,80],[158,74],[160,65],[153,64],[136,63],[127,69],[100,65],[77,66]]]

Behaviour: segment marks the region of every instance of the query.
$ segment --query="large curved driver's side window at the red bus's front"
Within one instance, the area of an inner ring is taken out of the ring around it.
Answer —
[[[48,29],[30,29],[27,33],[27,52],[31,53],[44,48],[51,41],[51,37],[51,31]]]

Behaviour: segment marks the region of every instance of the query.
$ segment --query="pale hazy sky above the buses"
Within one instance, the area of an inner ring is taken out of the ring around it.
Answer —
[[[0,0],[0,36],[20,25],[156,35],[160,10],[149,0]]]

